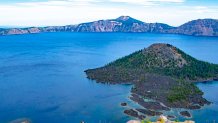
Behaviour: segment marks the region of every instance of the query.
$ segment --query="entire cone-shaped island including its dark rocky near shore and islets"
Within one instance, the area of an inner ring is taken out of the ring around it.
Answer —
[[[101,83],[133,84],[130,99],[144,108],[124,113],[143,119],[139,113],[160,115],[171,108],[200,109],[209,105],[211,102],[193,83],[217,80],[218,65],[199,61],[170,44],[157,43],[85,72],[89,79]],[[187,111],[180,114],[191,117]]]

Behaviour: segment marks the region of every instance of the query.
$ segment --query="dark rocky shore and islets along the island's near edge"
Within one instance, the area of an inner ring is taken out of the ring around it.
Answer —
[[[163,81],[162,81],[163,82]],[[113,82],[112,84],[116,84]],[[149,84],[149,83],[147,83]],[[150,83],[151,84],[151,83]],[[137,88],[135,90],[134,86],[140,86],[141,90],[144,90],[144,94],[141,93],[142,91]],[[163,111],[170,111],[172,108],[181,108],[181,109],[188,109],[188,110],[196,110],[196,109],[201,109],[204,105],[209,105],[211,102],[207,101],[202,97],[202,95],[195,95],[195,97],[190,97],[189,100],[190,102],[187,103],[185,101],[181,102],[176,102],[174,104],[167,102],[166,97],[162,96],[163,100],[159,100],[158,97],[153,97],[149,96],[152,95],[152,92],[154,92],[153,87],[147,87],[147,86],[142,86],[141,84],[137,85],[136,83],[134,84],[133,88],[131,89],[131,96],[129,97],[132,101],[135,103],[138,103],[141,105],[143,108],[130,108],[124,110],[124,113],[138,118],[138,119],[144,119],[147,116],[160,116],[163,115]],[[157,85],[158,86],[158,85]],[[144,88],[143,88],[144,87]],[[147,90],[149,88],[149,90]],[[146,94],[148,93],[148,94]],[[146,99],[149,99],[150,101],[147,101]],[[123,102],[121,103],[121,106],[126,107],[128,104]],[[184,118],[191,118],[191,114],[188,111],[181,111],[179,112],[181,116]],[[169,119],[175,119],[176,116],[169,115]]]

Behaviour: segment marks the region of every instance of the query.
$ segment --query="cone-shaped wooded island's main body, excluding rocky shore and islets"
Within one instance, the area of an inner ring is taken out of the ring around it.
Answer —
[[[98,82],[132,82],[138,85],[132,91],[144,97],[191,104],[190,98],[203,95],[191,82],[218,78],[218,65],[199,61],[169,44],[153,44],[86,74]],[[148,88],[152,93],[145,92]]]

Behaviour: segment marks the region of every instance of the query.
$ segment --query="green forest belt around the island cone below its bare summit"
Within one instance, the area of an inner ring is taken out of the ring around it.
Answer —
[[[172,76],[179,79],[207,79],[217,77],[218,65],[208,62],[199,61],[183,51],[176,49],[178,54],[181,54],[187,64],[182,68],[178,67],[179,61],[170,58],[158,57],[158,54],[143,53],[143,50],[137,51],[126,57],[112,62],[107,67],[117,67],[120,71],[131,69],[132,71],[144,71],[157,73],[161,75]],[[179,59],[181,60],[181,59]],[[122,75],[121,75],[122,76]],[[126,76],[126,75],[125,75]]]

